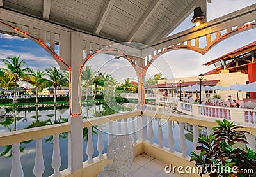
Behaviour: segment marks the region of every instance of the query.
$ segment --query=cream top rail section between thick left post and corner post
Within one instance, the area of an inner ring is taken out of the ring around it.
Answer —
[[[142,111],[131,111],[129,113],[118,113],[115,115],[89,118],[89,119],[83,120],[83,128],[92,127],[92,125],[105,124],[115,120],[122,120],[124,118],[136,117],[139,115],[142,115]]]

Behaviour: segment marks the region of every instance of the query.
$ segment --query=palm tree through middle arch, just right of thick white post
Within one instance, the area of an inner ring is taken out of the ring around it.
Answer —
[[[85,99],[87,100],[88,98],[88,90],[89,90],[89,86],[90,83],[93,83],[93,80],[95,78],[95,74],[96,72],[92,71],[92,66],[86,66],[85,69],[81,72],[81,81],[85,81],[85,85],[86,85],[86,97]]]

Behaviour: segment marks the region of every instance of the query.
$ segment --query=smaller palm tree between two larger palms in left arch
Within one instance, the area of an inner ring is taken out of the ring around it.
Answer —
[[[45,83],[48,81],[47,78],[44,78],[45,76],[44,71],[40,72],[39,70],[35,73],[33,71],[32,76],[34,77],[33,81],[31,82],[31,85],[34,85],[36,87],[36,103],[38,103],[38,90],[45,88]]]

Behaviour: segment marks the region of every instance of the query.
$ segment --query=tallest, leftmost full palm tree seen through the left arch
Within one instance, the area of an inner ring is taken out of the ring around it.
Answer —
[[[16,92],[17,92],[17,81],[31,81],[33,78],[31,74],[33,72],[29,67],[25,67],[26,63],[24,60],[19,60],[20,57],[8,57],[7,59],[2,59],[6,68],[1,68],[1,71],[4,72],[4,75],[14,83],[14,96],[12,104],[16,102]],[[24,67],[24,68],[23,68]]]

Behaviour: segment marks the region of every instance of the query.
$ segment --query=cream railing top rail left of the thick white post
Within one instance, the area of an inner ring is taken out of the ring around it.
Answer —
[[[12,145],[22,141],[43,138],[45,136],[51,136],[68,131],[71,131],[71,125],[69,123],[61,123],[31,129],[4,132],[0,134],[0,146]]]

